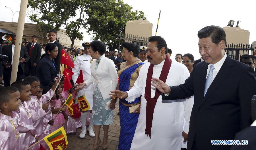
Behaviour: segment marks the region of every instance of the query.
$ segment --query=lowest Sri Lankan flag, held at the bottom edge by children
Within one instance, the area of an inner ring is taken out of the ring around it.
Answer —
[[[50,150],[67,148],[67,135],[63,127],[55,130],[53,133],[44,137],[44,141],[49,146]]]

